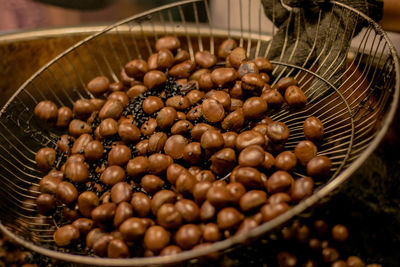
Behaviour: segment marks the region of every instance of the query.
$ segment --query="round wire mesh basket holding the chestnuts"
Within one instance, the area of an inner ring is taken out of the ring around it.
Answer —
[[[400,69],[394,48],[379,25],[357,10],[331,2],[324,8],[352,16],[365,25],[357,36],[358,43],[344,51],[347,56],[341,57],[338,49],[334,49],[341,35],[337,33],[336,25],[332,25],[325,32],[323,52],[316,57],[311,56],[315,53],[314,43],[305,62],[293,64],[297,46],[292,51],[287,50],[289,44],[296,44],[300,39],[302,32],[298,30],[294,39],[284,40],[280,59],[272,62],[276,66],[272,84],[285,75],[295,76],[308,97],[308,104],[303,109],[283,109],[270,114],[272,119],[286,123],[290,129],[291,136],[285,148],[292,150],[300,140],[304,140],[302,123],[305,118],[318,116],[325,125],[326,142],[319,148],[319,154],[332,159],[332,176],[329,180],[319,181],[311,197],[246,234],[173,257],[103,259],[76,255],[81,251],[63,253],[54,249],[55,221],[36,215],[34,200],[39,194],[37,188],[43,174],[37,171],[34,157],[43,146],[55,147],[60,132],[34,117],[36,104],[51,100],[59,106],[71,107],[79,98],[92,97],[86,89],[88,81],[97,75],[119,81],[124,64],[133,58],[146,59],[154,50],[155,40],[164,35],[178,37],[192,60],[198,50],[215,53],[226,38],[237,40],[246,48],[249,58],[268,58],[271,35],[276,28],[266,23],[259,1],[245,3],[243,0],[218,1],[225,7],[221,13],[210,8],[208,1],[188,0],[132,16],[77,43],[27,80],[0,114],[1,230],[28,249],[76,264],[139,266],[177,263],[225,251],[262,236],[327,197],[348,179],[378,146],[393,119],[400,90]],[[322,12],[321,9],[320,16]],[[290,16],[297,20],[301,14],[291,10]],[[346,28],[351,27],[346,25]],[[352,30],[351,37],[355,35],[356,31]],[[286,54],[290,56],[285,57]],[[325,66],[328,57],[335,60]],[[318,88],[324,90],[318,91]]]

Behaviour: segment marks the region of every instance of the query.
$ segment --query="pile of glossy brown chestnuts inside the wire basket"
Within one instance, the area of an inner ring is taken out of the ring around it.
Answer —
[[[92,97],[72,107],[42,101],[34,110],[66,130],[35,157],[45,174],[37,211],[62,213],[59,247],[121,258],[210,246],[288,211],[330,175],[317,117],[290,151],[290,129],[268,116],[307,105],[296,79],[271,87],[272,64],[248,59],[232,39],[194,60],[176,37],[155,50],[126,63],[120,81],[94,77]]]

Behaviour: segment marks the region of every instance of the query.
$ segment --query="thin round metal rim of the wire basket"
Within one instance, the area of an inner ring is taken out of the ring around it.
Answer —
[[[83,40],[77,42],[76,44],[72,45],[70,48],[64,50],[62,53],[60,53],[58,56],[53,58],[51,61],[49,61],[47,64],[45,64],[43,67],[41,67],[37,72],[35,72],[29,79],[27,79],[19,88],[18,90],[10,97],[10,99],[7,101],[7,103],[3,106],[3,108],[0,110],[0,117],[3,116],[5,110],[7,107],[10,105],[10,103],[17,97],[17,95],[24,90],[24,88],[30,84],[38,75],[40,75],[43,71],[45,71],[50,65],[55,63],[58,59],[66,55],[67,53],[71,52],[75,48],[83,45],[85,42],[88,42],[97,36],[106,33],[110,31],[111,29],[118,27],[122,24],[125,24],[131,20],[138,19],[147,15],[150,15],[154,12],[162,11],[164,9],[176,7],[179,5],[183,4],[188,4],[188,3],[195,3],[195,2],[203,2],[203,0],[184,0],[184,1],[179,1],[167,5],[163,5],[154,9],[147,10],[145,12],[141,12],[139,14],[133,15],[131,17],[128,17],[124,20],[121,20],[119,22],[116,22],[112,25],[107,26],[103,30],[100,30],[99,32],[96,32]],[[294,216],[300,214],[307,208],[313,206],[316,204],[319,200],[321,200],[323,197],[327,196],[329,193],[334,191],[335,189],[338,188],[341,184],[343,184],[347,179],[350,178],[351,174],[353,174],[363,163],[364,161],[372,154],[372,152],[378,147],[379,143],[383,139],[384,135],[386,134],[395,114],[397,111],[398,107],[398,102],[399,102],[399,95],[400,95],[400,63],[399,63],[399,58],[397,56],[396,50],[391,42],[391,40],[388,38],[387,33],[382,29],[382,27],[376,23],[374,20],[372,20],[370,17],[365,15],[364,13],[358,11],[357,9],[350,7],[348,5],[345,5],[343,3],[337,2],[337,1],[330,1],[331,4],[335,4],[337,6],[341,6],[343,8],[346,8],[360,17],[362,17],[364,20],[366,20],[370,25],[373,25],[374,30],[382,35],[382,37],[385,39],[386,43],[388,44],[388,48],[390,51],[390,54],[393,57],[393,62],[394,62],[394,68],[395,68],[395,73],[396,73],[396,82],[394,84],[394,91],[392,94],[392,101],[389,104],[388,111],[386,113],[385,118],[382,120],[382,124],[380,129],[377,131],[376,136],[370,141],[369,146],[359,155],[359,157],[350,164],[344,171],[342,171],[337,177],[332,179],[330,182],[326,183],[322,188],[320,188],[318,191],[314,192],[313,195],[310,197],[304,199],[297,205],[291,207],[291,209],[288,212],[283,213],[282,215],[276,217],[275,219],[263,223],[256,227],[255,229],[250,230],[249,232],[240,234],[240,235],[235,235],[232,236],[228,239],[215,242],[211,244],[210,246],[200,248],[197,250],[188,250],[184,251],[182,253],[179,253],[177,255],[171,255],[171,256],[156,256],[156,257],[148,257],[148,258],[129,258],[129,259],[109,259],[109,258],[98,258],[98,257],[93,257],[93,256],[83,256],[83,255],[75,255],[75,254],[69,254],[65,252],[60,252],[48,248],[44,248],[41,246],[38,246],[36,244],[33,244],[33,242],[27,241],[19,236],[17,236],[14,232],[12,232],[9,228],[7,228],[2,221],[0,220],[0,230],[9,236],[12,240],[17,242],[18,244],[35,251],[37,253],[40,253],[42,255],[62,260],[62,261],[67,261],[67,262],[72,262],[72,263],[78,263],[78,264],[84,264],[84,265],[99,265],[99,266],[143,266],[143,265],[164,265],[164,264],[172,264],[172,263],[178,263],[178,262],[183,262],[186,260],[190,259],[195,259],[213,252],[218,252],[222,251],[225,249],[228,249],[234,245],[239,245],[243,243],[246,240],[249,240],[251,238],[256,238],[260,237],[261,235],[271,231],[272,229],[276,228],[277,226],[281,225],[282,223],[290,220]],[[296,66],[298,68],[298,66]],[[332,86],[333,87],[333,86]]]

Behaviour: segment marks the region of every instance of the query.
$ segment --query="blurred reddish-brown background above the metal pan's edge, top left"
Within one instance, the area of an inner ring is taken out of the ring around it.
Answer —
[[[0,31],[111,23],[173,0],[0,0]]]

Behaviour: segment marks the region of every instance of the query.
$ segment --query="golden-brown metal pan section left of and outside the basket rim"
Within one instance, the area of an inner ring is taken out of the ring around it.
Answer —
[[[43,65],[105,27],[51,28],[0,35],[0,106]]]

